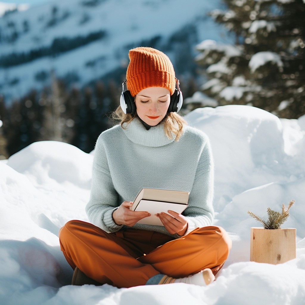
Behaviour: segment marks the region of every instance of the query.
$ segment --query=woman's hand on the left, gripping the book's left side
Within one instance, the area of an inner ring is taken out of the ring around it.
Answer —
[[[132,211],[129,208],[132,206],[132,201],[124,201],[118,208],[112,213],[112,218],[117,225],[125,224],[128,227],[132,227],[136,222],[142,218],[149,217],[150,214],[145,211]]]

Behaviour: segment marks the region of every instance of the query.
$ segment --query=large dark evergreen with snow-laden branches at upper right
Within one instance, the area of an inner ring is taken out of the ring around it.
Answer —
[[[221,105],[250,104],[280,117],[305,113],[303,0],[223,0],[211,15],[235,45],[206,40],[196,61],[206,68],[202,91]]]

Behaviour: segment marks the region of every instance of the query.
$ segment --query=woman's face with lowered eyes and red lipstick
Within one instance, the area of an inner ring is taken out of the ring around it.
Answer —
[[[141,90],[135,99],[137,114],[146,124],[155,126],[161,122],[170,105],[170,91],[163,87]]]

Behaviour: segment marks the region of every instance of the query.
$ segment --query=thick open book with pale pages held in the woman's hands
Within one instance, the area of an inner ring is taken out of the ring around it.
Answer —
[[[188,196],[189,192],[184,191],[142,188],[130,209],[132,211],[147,211],[151,214],[151,216],[145,217],[137,223],[163,226],[155,214],[161,212],[168,214],[167,210],[181,214],[188,206]]]

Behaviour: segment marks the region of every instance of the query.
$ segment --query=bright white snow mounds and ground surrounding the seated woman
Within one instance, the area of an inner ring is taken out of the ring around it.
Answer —
[[[214,223],[233,240],[215,282],[118,289],[71,286],[72,269],[59,248],[68,220],[88,221],[94,152],[35,142],[0,161],[0,304],[296,304],[305,298],[305,116],[279,119],[241,105],[198,108],[185,117],[210,138],[215,160]],[[296,202],[284,228],[297,230],[297,257],[279,265],[249,261],[247,210],[266,216]],[[170,302],[169,302],[170,301]]]

